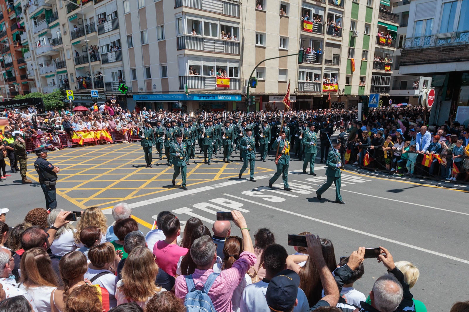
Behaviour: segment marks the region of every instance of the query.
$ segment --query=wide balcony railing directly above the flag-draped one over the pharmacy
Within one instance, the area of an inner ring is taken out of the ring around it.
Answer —
[[[239,55],[240,43],[239,41],[206,38],[200,36],[180,36],[177,37],[177,49],[189,49]]]

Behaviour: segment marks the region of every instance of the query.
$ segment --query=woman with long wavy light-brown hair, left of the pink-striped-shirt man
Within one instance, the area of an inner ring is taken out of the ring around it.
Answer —
[[[135,302],[142,308],[157,292],[166,291],[155,285],[158,265],[150,249],[138,246],[127,257],[122,268],[122,279],[117,282],[117,305]]]

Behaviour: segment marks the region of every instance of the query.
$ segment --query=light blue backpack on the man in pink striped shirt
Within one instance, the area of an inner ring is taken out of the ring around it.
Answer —
[[[208,297],[208,291],[219,275],[219,273],[210,274],[202,290],[196,290],[192,274],[186,276],[186,285],[189,292],[184,297],[184,306],[187,312],[216,312],[212,299]]]

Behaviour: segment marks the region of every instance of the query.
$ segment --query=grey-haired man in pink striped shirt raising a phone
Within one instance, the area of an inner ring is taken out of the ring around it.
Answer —
[[[234,224],[241,229],[243,252],[231,268],[221,271],[208,292],[208,296],[212,299],[217,312],[233,311],[231,304],[233,291],[244,278],[248,269],[256,263],[256,255],[254,254],[254,247],[252,246],[246,220],[241,212],[237,210],[231,213]],[[197,265],[194,274],[192,274],[194,284],[196,284],[197,289],[202,289],[208,276],[213,273],[213,263],[217,261],[216,247],[212,238],[204,235],[196,239],[190,247],[190,256]],[[187,295],[189,290],[187,289],[185,276],[182,275],[176,278],[174,290],[176,297],[183,299]]]

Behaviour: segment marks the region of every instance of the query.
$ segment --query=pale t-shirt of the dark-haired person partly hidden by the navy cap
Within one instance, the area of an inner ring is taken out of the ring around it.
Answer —
[[[265,292],[269,283],[260,281],[246,286],[242,291],[240,301],[240,312],[270,312],[270,308],[265,300]],[[310,309],[308,298],[301,288],[298,288],[298,305],[295,306],[293,312],[306,312]]]

